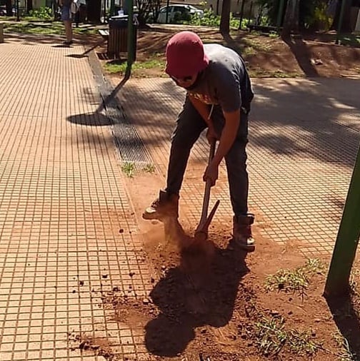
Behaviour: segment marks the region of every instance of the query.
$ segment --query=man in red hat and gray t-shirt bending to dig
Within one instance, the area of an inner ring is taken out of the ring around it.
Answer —
[[[204,173],[204,181],[215,185],[219,164],[225,158],[231,205],[234,211],[234,241],[254,250],[248,212],[249,178],[246,171],[248,116],[254,98],[244,60],[219,44],[203,44],[191,31],[175,34],[166,46],[166,73],[186,89],[184,107],[171,136],[166,189],[146,208],[144,219],[179,217],[179,191],[190,151],[202,131],[209,143],[219,140],[215,156]]]

